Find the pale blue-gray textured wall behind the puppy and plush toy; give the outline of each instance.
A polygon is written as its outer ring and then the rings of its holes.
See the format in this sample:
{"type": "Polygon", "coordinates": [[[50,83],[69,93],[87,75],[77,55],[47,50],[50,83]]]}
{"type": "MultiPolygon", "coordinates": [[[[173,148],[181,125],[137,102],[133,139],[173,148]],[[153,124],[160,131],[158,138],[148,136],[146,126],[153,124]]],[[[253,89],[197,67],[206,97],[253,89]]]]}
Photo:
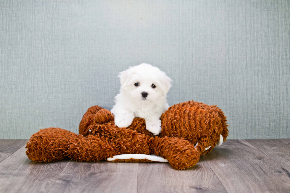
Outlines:
{"type": "Polygon", "coordinates": [[[229,139],[290,138],[288,0],[0,1],[0,138],[78,132],[117,73],[150,63],[169,105],[218,105],[229,139]]]}

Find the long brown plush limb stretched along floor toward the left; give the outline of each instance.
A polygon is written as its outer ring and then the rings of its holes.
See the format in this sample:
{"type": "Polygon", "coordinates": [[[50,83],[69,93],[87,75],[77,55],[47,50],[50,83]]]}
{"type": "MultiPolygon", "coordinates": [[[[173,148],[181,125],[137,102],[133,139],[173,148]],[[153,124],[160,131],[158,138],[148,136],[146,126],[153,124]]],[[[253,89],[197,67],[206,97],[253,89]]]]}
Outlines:
{"type": "Polygon", "coordinates": [[[131,129],[119,128],[115,136],[77,135],[60,128],[41,129],[27,142],[26,154],[35,162],[71,158],[76,161],[100,161],[114,155],[150,154],[148,137],[131,129]],[[123,131],[121,131],[123,130],[123,131]]]}

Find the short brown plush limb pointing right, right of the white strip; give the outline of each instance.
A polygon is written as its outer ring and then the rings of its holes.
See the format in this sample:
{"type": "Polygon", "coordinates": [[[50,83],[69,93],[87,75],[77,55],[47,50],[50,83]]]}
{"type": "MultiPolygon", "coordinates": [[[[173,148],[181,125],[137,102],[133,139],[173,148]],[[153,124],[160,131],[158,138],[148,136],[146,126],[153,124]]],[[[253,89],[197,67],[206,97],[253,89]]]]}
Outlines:
{"type": "Polygon", "coordinates": [[[189,141],[178,137],[152,137],[152,153],[164,157],[174,169],[191,168],[199,161],[199,152],[189,141]]]}

